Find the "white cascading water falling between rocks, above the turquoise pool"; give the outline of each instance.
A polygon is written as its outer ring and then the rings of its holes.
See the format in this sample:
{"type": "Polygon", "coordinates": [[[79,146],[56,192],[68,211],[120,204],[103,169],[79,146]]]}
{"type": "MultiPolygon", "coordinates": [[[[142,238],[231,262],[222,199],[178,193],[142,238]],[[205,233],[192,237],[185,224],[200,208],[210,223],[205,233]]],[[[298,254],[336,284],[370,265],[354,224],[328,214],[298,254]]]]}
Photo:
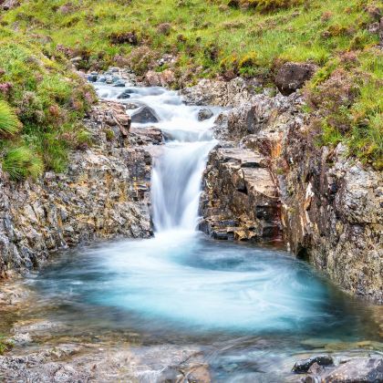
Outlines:
{"type": "MultiPolygon", "coordinates": [[[[97,89],[100,97],[114,100],[124,90],[106,85],[97,89]]],[[[142,129],[156,126],[167,137],[162,155],[154,162],[151,176],[156,233],[193,232],[199,218],[202,173],[208,154],[216,143],[212,138],[212,122],[219,109],[212,109],[214,115],[211,119],[199,121],[200,107],[184,105],[176,92],[164,88],[134,88],[134,93],[124,102],[148,105],[154,109],[160,122],[136,126],[142,129]]],[[[129,111],[132,112],[134,110],[129,111]]]]}

